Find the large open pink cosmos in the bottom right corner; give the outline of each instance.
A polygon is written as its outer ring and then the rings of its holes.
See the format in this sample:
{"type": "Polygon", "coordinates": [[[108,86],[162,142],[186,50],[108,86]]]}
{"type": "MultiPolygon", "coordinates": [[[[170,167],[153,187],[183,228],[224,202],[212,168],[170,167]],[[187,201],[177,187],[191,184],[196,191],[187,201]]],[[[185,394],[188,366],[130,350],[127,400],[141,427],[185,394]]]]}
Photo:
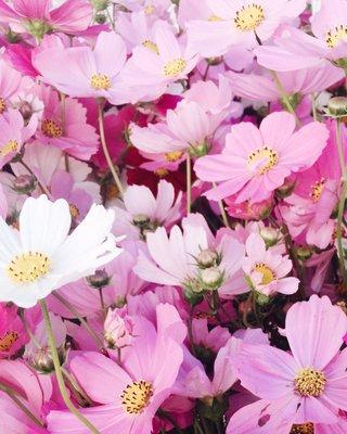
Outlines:
{"type": "MultiPolygon", "coordinates": [[[[234,358],[236,375],[256,396],[281,406],[282,420],[336,423],[338,411],[347,409],[346,349],[339,352],[346,330],[343,310],[326,296],[312,295],[287,312],[285,334],[292,354],[244,344],[234,358]]],[[[262,416],[264,424],[271,421],[271,407],[262,416]]]]}

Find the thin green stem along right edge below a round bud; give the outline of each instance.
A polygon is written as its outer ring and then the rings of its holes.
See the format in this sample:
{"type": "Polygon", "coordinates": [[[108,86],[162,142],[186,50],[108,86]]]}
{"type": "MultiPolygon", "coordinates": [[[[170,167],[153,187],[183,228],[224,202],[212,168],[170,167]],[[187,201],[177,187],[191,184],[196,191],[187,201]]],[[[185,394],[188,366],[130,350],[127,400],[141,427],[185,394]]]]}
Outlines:
{"type": "Polygon", "coordinates": [[[338,202],[336,241],[337,241],[337,251],[339,257],[339,269],[344,280],[344,288],[346,288],[347,273],[346,273],[344,247],[343,247],[343,218],[345,210],[345,201],[347,195],[347,177],[346,177],[346,164],[345,164],[345,150],[340,133],[340,119],[336,119],[336,144],[337,144],[338,159],[339,159],[342,181],[343,181],[340,197],[338,202]]]}

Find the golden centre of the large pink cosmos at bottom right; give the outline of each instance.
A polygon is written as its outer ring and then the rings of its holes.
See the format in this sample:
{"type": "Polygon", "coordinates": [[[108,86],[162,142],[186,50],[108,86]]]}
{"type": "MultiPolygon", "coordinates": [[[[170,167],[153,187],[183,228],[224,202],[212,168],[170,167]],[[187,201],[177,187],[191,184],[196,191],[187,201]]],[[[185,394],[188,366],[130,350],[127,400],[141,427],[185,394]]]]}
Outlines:
{"type": "Polygon", "coordinates": [[[323,372],[313,368],[299,370],[294,380],[295,388],[301,396],[321,396],[325,388],[326,379],[323,372]]]}

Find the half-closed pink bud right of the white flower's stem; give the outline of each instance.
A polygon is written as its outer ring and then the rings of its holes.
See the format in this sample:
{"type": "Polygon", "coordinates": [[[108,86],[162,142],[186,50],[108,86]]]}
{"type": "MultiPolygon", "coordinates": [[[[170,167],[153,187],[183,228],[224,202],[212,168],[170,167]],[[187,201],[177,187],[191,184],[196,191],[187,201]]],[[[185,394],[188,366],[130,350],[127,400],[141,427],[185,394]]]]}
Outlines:
{"type": "Polygon", "coordinates": [[[108,348],[124,348],[133,340],[133,322],[125,308],[110,309],[104,323],[104,340],[108,348]]]}

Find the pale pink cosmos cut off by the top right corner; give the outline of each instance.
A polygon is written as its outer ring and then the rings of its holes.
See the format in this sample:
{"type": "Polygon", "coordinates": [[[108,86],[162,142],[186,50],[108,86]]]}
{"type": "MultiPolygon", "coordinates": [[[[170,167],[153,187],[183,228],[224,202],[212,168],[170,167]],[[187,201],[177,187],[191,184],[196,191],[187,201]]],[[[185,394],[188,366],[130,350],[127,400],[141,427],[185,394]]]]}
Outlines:
{"type": "Polygon", "coordinates": [[[258,63],[274,71],[295,71],[336,61],[347,55],[347,4],[345,0],[322,2],[313,15],[309,36],[294,27],[285,27],[274,38],[274,46],[255,50],[258,63]]]}

